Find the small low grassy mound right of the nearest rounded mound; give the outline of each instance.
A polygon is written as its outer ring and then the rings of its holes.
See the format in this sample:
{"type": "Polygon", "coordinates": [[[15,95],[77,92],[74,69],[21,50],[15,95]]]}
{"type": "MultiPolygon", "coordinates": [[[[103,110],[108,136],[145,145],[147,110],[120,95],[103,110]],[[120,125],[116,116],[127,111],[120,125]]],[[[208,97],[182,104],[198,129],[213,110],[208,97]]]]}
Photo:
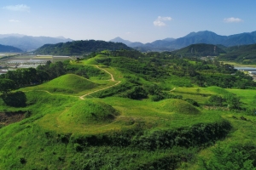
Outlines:
{"type": "Polygon", "coordinates": [[[165,99],[160,101],[160,110],[189,115],[201,113],[195,106],[181,99],[165,99]]]}

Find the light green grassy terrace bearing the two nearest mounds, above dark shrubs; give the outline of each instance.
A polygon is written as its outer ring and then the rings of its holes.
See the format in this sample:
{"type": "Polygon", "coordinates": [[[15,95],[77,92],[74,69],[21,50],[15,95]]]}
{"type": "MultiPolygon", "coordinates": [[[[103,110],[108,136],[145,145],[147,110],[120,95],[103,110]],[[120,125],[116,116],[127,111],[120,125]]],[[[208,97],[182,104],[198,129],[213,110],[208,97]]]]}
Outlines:
{"type": "Polygon", "coordinates": [[[218,121],[221,117],[217,113],[218,111],[201,112],[193,105],[179,99],[151,102],[111,97],[85,99],[62,107],[53,114],[45,115],[38,120],[38,124],[58,133],[88,135],[119,131],[123,128],[133,129],[141,123],[143,128],[152,130],[188,127],[199,122],[218,121]],[[172,104],[175,104],[174,110],[172,104]],[[165,107],[172,111],[166,110],[165,107]]]}

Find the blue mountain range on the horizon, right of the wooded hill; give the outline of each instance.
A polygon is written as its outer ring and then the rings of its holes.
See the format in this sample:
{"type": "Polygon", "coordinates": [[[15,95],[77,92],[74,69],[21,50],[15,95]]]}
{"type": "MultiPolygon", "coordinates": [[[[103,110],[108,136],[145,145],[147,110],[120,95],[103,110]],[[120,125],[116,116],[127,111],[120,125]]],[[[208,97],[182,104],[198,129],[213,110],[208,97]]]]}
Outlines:
{"type": "Polygon", "coordinates": [[[140,51],[172,51],[196,43],[221,44],[225,47],[231,47],[236,45],[247,45],[256,43],[256,31],[244,32],[241,34],[235,34],[230,36],[220,36],[212,31],[198,31],[191,32],[185,37],[180,37],[177,39],[166,38],[148,43],[130,42],[120,37],[116,37],[110,41],[123,42],[127,46],[140,51]]]}

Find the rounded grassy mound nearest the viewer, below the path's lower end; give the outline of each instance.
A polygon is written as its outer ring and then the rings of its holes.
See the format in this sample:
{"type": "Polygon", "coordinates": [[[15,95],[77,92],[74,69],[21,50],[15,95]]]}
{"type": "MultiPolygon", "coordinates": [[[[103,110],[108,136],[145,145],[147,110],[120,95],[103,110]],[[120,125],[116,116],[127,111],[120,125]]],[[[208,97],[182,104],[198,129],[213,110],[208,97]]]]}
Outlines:
{"type": "Polygon", "coordinates": [[[96,100],[81,100],[73,105],[69,111],[64,112],[60,116],[62,122],[68,124],[98,124],[113,122],[118,111],[113,109],[111,105],[96,100]]]}

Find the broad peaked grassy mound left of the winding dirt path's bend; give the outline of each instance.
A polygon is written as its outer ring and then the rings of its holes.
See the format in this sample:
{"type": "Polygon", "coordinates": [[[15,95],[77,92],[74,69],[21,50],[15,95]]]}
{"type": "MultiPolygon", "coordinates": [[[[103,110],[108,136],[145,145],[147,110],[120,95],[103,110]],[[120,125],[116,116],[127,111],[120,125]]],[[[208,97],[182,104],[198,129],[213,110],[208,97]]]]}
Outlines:
{"type": "Polygon", "coordinates": [[[38,88],[49,92],[61,92],[64,94],[78,94],[81,91],[96,88],[97,84],[90,80],[74,74],[67,74],[57,77],[38,88]]]}

